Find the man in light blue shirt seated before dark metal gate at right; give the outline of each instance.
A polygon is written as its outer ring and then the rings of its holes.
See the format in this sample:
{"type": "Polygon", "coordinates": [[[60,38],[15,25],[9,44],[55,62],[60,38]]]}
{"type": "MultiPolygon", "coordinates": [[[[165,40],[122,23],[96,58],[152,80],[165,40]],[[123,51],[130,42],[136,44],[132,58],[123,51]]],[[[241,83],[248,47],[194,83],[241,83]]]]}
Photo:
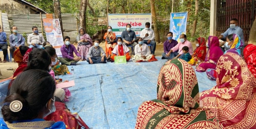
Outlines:
{"type": "MultiPolygon", "coordinates": [[[[218,39],[226,39],[226,37],[230,34],[237,34],[241,38],[241,41],[244,43],[244,32],[243,29],[241,29],[238,26],[238,20],[236,18],[232,18],[230,20],[230,28],[227,29],[226,32],[222,33],[221,36],[218,37],[218,39]]],[[[220,46],[223,46],[225,42],[220,43],[220,46]]]]}

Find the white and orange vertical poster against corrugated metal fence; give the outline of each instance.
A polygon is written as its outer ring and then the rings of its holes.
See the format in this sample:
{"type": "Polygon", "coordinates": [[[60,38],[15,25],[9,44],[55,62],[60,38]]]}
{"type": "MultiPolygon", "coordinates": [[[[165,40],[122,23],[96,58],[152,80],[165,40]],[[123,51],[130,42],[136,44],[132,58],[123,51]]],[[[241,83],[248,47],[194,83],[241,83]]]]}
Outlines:
{"type": "Polygon", "coordinates": [[[61,26],[58,19],[47,19],[44,18],[44,30],[46,33],[46,39],[53,48],[56,50],[58,57],[61,57],[61,46],[63,46],[63,37],[61,32],[61,26]]]}

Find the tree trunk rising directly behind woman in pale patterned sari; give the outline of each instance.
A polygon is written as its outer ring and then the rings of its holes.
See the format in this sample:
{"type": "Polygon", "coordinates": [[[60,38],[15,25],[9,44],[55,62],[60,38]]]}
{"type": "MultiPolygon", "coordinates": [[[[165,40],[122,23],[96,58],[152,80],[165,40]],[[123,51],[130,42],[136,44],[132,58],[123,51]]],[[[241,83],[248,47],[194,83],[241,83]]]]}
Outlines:
{"type": "Polygon", "coordinates": [[[86,32],[86,7],[87,7],[87,0],[81,0],[80,2],[80,11],[79,11],[79,20],[80,20],[80,27],[84,28],[86,32]]]}

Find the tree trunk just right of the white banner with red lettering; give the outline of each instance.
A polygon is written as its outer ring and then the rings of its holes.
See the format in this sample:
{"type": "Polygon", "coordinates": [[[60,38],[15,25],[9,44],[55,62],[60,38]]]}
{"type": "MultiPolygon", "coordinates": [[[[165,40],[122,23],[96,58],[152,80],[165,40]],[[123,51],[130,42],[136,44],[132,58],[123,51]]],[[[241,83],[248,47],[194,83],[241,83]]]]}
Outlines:
{"type": "Polygon", "coordinates": [[[160,43],[158,26],[157,26],[157,14],[155,10],[155,0],[150,0],[150,5],[151,5],[152,20],[154,23],[155,40],[157,43],[160,43]]]}

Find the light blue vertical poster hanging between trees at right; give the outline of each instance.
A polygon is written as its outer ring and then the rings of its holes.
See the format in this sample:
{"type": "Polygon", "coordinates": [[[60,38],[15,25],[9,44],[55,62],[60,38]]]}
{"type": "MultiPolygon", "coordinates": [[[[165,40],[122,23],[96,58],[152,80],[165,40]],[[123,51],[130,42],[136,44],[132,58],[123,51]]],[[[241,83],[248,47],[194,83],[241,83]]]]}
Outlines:
{"type": "Polygon", "coordinates": [[[188,12],[171,13],[170,32],[173,33],[172,39],[180,42],[180,34],[186,34],[186,22],[188,12]]]}

